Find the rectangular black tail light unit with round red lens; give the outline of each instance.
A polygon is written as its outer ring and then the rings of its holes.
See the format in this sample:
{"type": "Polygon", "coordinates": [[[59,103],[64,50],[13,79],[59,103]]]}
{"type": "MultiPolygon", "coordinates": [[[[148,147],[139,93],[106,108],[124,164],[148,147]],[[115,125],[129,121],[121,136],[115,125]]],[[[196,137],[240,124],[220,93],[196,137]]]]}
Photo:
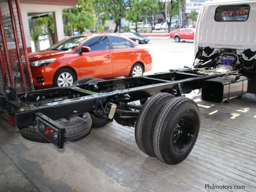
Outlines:
{"type": "Polygon", "coordinates": [[[65,128],[41,113],[36,113],[36,115],[37,132],[57,148],[63,148],[65,128]]]}

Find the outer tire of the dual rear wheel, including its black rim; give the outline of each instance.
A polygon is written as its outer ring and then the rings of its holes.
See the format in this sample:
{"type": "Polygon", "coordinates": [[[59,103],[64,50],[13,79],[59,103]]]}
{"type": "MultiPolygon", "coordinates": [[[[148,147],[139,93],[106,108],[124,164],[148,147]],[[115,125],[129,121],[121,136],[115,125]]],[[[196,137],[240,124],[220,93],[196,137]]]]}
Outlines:
{"type": "Polygon", "coordinates": [[[166,164],[178,164],[191,152],[200,129],[200,112],[195,101],[176,97],[164,104],[156,117],[153,147],[166,164]]]}

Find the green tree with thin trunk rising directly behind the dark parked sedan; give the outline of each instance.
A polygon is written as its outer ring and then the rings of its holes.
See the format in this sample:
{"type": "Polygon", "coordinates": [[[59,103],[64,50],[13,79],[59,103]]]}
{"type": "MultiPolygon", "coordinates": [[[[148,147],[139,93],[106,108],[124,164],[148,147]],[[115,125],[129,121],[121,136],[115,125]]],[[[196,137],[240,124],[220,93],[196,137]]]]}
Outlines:
{"type": "Polygon", "coordinates": [[[138,32],[137,24],[140,21],[141,7],[139,0],[128,0],[129,10],[126,11],[126,19],[135,23],[135,31],[138,32]]]}

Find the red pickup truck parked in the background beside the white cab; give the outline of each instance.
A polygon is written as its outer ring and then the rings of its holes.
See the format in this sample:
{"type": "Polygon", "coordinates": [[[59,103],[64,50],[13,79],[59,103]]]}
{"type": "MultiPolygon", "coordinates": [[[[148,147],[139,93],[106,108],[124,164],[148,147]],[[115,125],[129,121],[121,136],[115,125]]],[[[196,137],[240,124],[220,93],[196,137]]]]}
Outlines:
{"type": "Polygon", "coordinates": [[[181,28],[179,31],[170,31],[169,37],[173,38],[176,42],[180,42],[180,40],[194,40],[195,32],[195,28],[181,28]]]}

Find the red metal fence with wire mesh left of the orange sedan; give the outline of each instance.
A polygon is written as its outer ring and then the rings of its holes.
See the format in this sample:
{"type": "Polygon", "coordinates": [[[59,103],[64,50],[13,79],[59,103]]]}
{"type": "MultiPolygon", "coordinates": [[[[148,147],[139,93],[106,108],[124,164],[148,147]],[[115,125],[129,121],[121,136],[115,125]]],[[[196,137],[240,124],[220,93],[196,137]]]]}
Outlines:
{"type": "Polygon", "coordinates": [[[0,0],[0,69],[0,92],[34,90],[18,0],[0,0]]]}

